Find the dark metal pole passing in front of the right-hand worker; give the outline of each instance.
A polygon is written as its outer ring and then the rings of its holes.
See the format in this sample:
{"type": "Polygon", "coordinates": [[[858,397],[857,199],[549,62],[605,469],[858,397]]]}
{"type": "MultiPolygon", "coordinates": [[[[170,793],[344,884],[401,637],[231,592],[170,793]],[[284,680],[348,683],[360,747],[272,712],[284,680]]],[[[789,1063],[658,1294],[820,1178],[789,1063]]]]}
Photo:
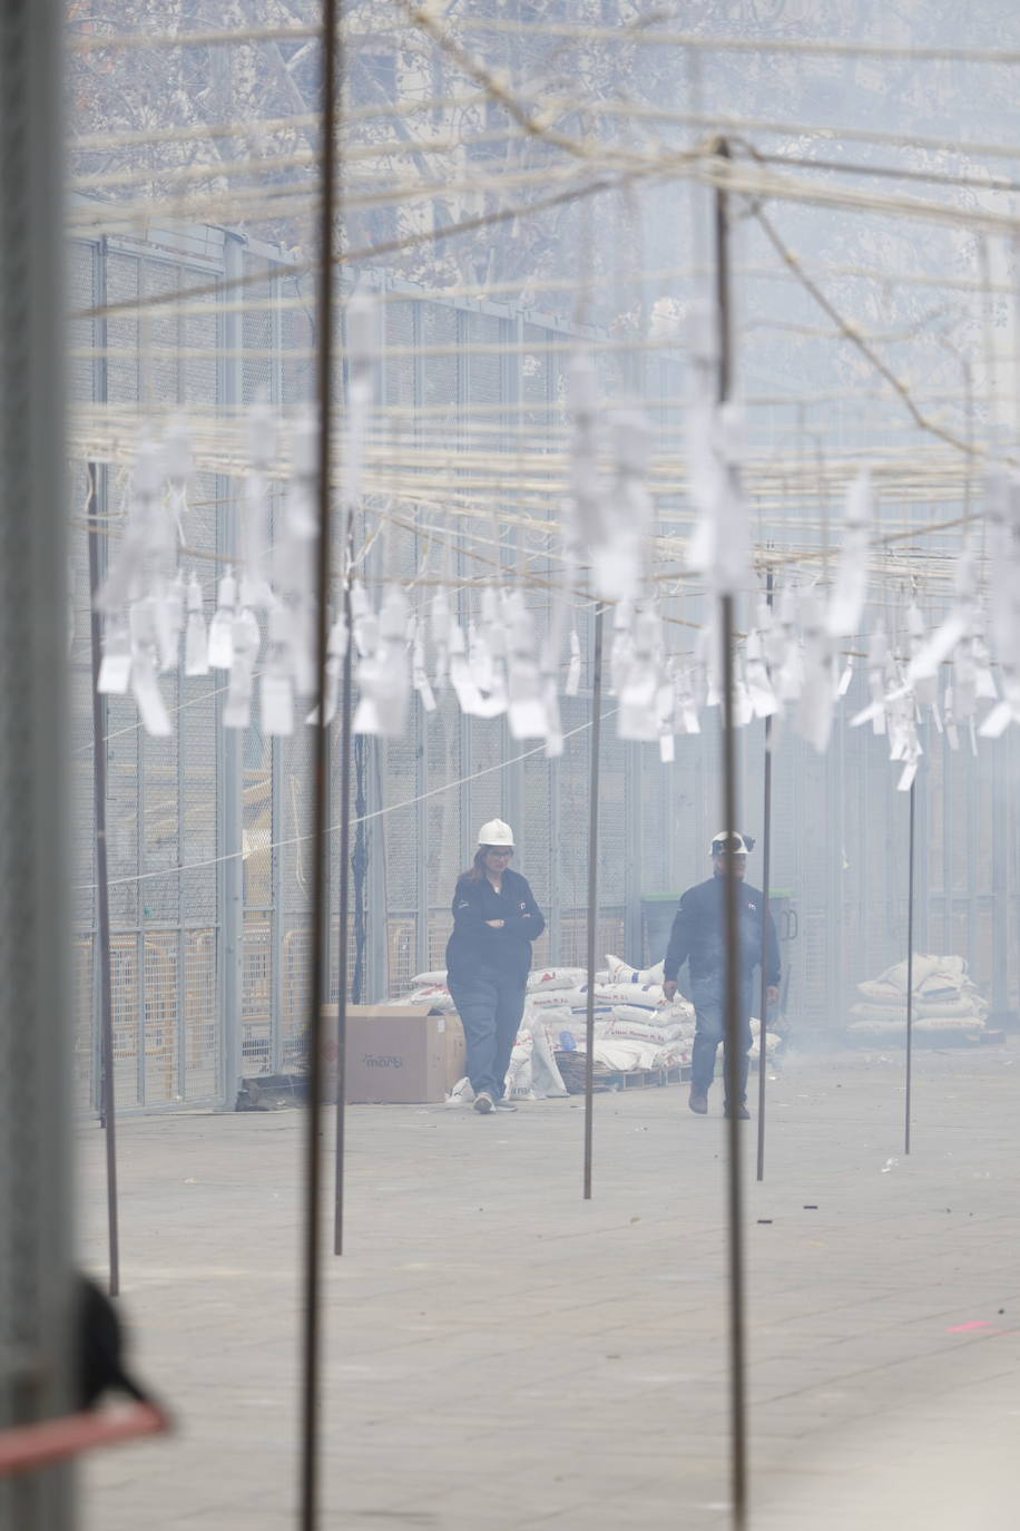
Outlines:
{"type": "MultiPolygon", "coordinates": [[[[729,158],[729,145],[722,139],[716,149],[720,159],[729,158]]],[[[729,219],[725,190],[716,190],[716,302],[719,315],[719,403],[725,404],[733,390],[731,303],[729,303],[729,219]]],[[[719,599],[719,629],[722,637],[722,700],[723,700],[723,827],[737,827],[737,781],[734,739],[734,664],[733,664],[733,596],[719,599]]],[[[728,1139],[728,1217],[729,1217],[729,1405],[731,1405],[731,1485],[733,1525],[745,1531],[748,1523],[746,1474],[746,1399],[745,1399],[745,1332],[743,1332],[743,1220],[740,1174],[740,928],[737,909],[737,879],[733,860],[726,868],[725,932],[726,932],[726,1099],[729,1116],[728,1139]]]]}

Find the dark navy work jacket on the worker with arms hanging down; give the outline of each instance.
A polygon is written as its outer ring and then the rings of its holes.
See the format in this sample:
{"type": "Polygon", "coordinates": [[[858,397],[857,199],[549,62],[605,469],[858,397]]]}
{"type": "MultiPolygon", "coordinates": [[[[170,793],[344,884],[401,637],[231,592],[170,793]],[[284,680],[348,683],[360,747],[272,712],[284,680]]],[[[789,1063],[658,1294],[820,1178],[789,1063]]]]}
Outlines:
{"type": "MultiPolygon", "coordinates": [[[[676,983],[676,975],[685,961],[690,963],[691,980],[722,978],[726,951],[725,877],[710,877],[688,888],[673,920],[670,946],[665,954],[662,977],[676,983]]],[[[749,978],[762,961],[762,914],[765,899],[757,888],[737,882],[737,931],[740,935],[740,972],[749,978]]],[[[775,939],[772,916],[765,911],[765,981],[780,981],[780,949],[775,939]]]]}

